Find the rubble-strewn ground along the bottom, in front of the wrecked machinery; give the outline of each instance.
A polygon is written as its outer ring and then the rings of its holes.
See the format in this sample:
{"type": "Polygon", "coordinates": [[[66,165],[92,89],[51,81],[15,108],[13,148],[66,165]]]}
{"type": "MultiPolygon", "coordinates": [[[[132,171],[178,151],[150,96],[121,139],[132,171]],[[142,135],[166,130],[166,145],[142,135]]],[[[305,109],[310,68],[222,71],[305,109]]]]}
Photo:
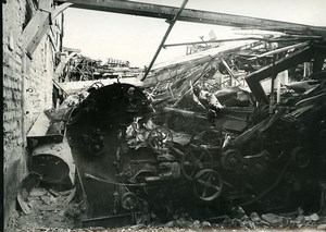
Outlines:
{"type": "Polygon", "coordinates": [[[235,208],[233,217],[221,217],[214,222],[191,219],[187,213],[175,215],[164,224],[138,223],[124,228],[87,228],[82,229],[82,215],[85,206],[77,203],[75,188],[58,191],[34,187],[26,203],[30,212],[17,209],[11,217],[7,231],[255,231],[255,230],[308,230],[325,231],[325,213],[305,213],[300,208],[291,213],[275,215],[244,212],[235,208]]]}

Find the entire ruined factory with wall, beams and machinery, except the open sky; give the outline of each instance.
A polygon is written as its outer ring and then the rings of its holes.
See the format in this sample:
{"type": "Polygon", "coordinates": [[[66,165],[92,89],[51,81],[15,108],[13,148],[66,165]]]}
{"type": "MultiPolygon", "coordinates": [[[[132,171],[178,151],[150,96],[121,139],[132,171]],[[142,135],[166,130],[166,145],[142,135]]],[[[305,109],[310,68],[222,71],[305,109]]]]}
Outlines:
{"type": "Polygon", "coordinates": [[[191,1],[2,0],[4,231],[326,229],[326,24],[191,1]],[[70,9],[166,27],[139,68],[66,46],[70,9]]]}

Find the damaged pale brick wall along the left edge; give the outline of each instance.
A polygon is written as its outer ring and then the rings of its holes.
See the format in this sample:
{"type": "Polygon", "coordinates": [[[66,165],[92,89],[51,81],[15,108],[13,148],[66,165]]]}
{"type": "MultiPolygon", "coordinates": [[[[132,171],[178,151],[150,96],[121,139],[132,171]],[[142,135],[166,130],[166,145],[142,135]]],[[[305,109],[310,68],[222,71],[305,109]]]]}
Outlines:
{"type": "MultiPolygon", "coordinates": [[[[54,48],[48,33],[30,59],[23,44],[23,30],[37,7],[25,0],[2,3],[4,224],[15,208],[18,184],[27,174],[26,134],[39,113],[52,107],[53,62],[59,46],[54,48]]],[[[53,22],[54,38],[61,32],[60,24],[60,19],[53,22]]]]}

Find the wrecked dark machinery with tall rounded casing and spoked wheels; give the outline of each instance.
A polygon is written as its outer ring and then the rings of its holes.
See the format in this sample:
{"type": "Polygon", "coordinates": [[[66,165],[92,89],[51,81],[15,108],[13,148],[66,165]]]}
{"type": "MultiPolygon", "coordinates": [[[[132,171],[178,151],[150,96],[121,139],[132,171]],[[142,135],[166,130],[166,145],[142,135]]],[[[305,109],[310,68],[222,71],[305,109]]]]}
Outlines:
{"type": "Polygon", "coordinates": [[[306,193],[306,206],[318,203],[326,178],[324,95],[294,111],[259,119],[255,111],[244,124],[192,118],[193,130],[183,131],[175,123],[183,115],[171,123],[173,115],[154,110],[138,87],[89,91],[66,123],[87,224],[135,221],[146,212],[167,218],[177,208],[215,213],[221,204],[291,207],[306,193]]]}

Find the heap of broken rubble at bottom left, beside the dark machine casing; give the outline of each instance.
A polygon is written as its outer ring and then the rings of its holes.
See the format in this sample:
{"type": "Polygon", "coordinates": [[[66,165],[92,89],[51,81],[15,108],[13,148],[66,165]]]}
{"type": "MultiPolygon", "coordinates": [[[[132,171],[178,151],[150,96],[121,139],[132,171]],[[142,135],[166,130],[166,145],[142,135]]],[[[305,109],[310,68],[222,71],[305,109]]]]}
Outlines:
{"type": "Polygon", "coordinates": [[[25,199],[30,211],[15,211],[8,229],[47,231],[76,228],[80,221],[83,203],[76,203],[75,192],[75,188],[58,191],[53,187],[34,187],[25,199]]]}

